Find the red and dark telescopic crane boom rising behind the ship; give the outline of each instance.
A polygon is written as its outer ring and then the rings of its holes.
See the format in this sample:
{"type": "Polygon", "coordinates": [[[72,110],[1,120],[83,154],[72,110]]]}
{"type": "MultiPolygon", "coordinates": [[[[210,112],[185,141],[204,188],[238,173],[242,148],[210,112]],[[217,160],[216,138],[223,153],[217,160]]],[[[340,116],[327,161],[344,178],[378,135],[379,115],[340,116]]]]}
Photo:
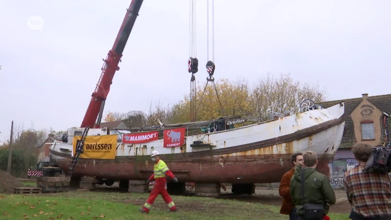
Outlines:
{"type": "Polygon", "coordinates": [[[104,60],[102,73],[98,83],[92,93],[86,114],[81,127],[99,128],[102,120],[103,109],[105,108],[106,98],[110,91],[110,85],[115,71],[119,70],[118,63],[121,62],[122,52],[128,42],[130,32],[138,16],[143,0],[131,0],[129,9],[126,12],[124,21],[118,31],[114,45],[104,60]],[[95,125],[96,122],[96,125],[95,125]]]}

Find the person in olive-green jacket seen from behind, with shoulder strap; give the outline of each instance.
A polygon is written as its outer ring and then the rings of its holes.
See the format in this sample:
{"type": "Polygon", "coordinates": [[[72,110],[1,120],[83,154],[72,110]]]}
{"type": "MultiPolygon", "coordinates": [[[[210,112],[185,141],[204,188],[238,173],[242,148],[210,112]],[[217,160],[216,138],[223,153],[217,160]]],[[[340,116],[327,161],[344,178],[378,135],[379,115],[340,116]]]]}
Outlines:
{"type": "Polygon", "coordinates": [[[328,178],[316,171],[318,156],[313,151],[307,151],[303,154],[304,166],[295,170],[290,182],[290,195],[293,204],[295,204],[299,220],[304,220],[304,203],[323,203],[324,215],[328,214],[328,204],[335,204],[335,193],[331,187],[328,178]],[[302,195],[301,172],[304,172],[304,200],[302,195]]]}

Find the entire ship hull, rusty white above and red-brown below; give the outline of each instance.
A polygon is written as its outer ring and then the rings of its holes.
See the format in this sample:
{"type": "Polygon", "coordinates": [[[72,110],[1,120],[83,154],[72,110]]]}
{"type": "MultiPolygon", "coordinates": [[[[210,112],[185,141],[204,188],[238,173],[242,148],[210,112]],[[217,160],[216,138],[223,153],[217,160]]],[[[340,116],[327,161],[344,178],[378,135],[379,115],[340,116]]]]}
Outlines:
{"type": "MultiPolygon", "coordinates": [[[[119,142],[115,159],[80,158],[73,176],[145,180],[153,172],[150,157],[153,150],[161,154],[160,158],[181,182],[279,182],[292,168],[290,156],[305,151],[318,154],[317,170],[329,176],[328,163],[338,150],[344,133],[344,105],[340,103],[240,128],[186,136],[185,144],[180,147],[164,148],[163,139],[142,144],[119,142]],[[195,141],[202,144],[195,146],[195,141]]],[[[49,152],[51,160],[67,172],[72,160],[72,141],[55,141],[49,152]]]]}

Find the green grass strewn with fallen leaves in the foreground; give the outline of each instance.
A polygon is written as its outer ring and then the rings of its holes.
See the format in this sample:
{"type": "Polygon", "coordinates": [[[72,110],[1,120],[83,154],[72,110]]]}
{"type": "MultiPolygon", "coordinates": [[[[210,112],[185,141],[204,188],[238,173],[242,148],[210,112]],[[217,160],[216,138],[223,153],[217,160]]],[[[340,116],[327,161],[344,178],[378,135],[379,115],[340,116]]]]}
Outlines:
{"type": "MultiPolygon", "coordinates": [[[[0,194],[0,219],[7,220],[288,220],[279,206],[231,199],[172,196],[178,207],[169,209],[159,196],[149,214],[138,209],[149,194],[75,191],[57,194],[0,194]]],[[[348,214],[329,214],[332,220],[348,220],[348,214]]]]}

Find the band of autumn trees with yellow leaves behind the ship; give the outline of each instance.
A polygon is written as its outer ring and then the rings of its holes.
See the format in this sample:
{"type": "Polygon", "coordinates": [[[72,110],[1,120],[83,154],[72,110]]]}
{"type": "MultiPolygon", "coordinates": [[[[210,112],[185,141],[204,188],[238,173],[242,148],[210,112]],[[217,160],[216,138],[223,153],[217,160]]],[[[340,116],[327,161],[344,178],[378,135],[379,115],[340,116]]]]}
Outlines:
{"type": "MultiPolygon", "coordinates": [[[[216,79],[215,84],[216,89],[211,82],[206,88],[206,83],[197,83],[195,95],[197,121],[237,115],[253,116],[259,121],[264,121],[267,120],[270,111],[280,113],[285,110],[297,111],[304,99],[311,99],[314,102],[325,101],[325,89],[321,90],[319,85],[294,81],[289,74],[281,74],[280,78],[267,74],[256,82],[252,89],[244,79],[236,81],[216,79]]],[[[130,127],[158,125],[159,120],[165,124],[190,122],[190,94],[186,94],[183,100],[171,107],[162,107],[159,103],[153,109],[151,105],[148,114],[137,111],[137,115],[144,115],[145,120],[140,120],[143,123],[131,123],[129,118],[134,117],[134,113],[130,112],[108,112],[105,121],[128,119],[126,124],[130,127]]]]}

